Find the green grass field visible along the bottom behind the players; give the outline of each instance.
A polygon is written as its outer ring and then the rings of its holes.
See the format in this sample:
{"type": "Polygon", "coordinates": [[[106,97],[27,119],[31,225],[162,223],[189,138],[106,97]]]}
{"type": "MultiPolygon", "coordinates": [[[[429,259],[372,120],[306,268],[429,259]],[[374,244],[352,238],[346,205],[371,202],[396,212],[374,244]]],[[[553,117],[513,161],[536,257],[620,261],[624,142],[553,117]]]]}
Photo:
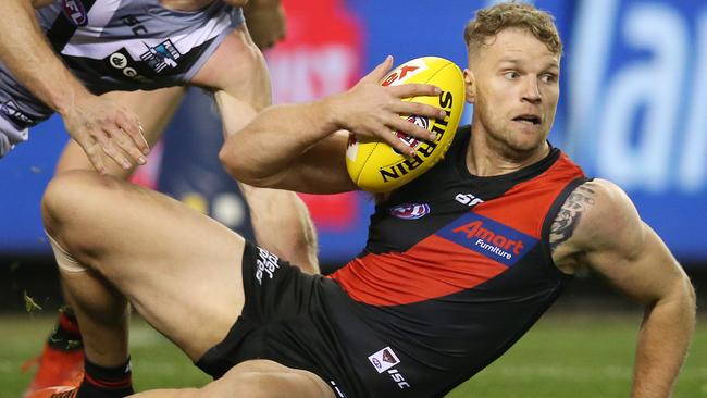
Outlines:
{"type": "MultiPolygon", "coordinates": [[[[511,350],[448,398],[629,397],[637,313],[554,311],[511,350]]],[[[702,315],[674,398],[707,397],[707,319],[702,315]]],[[[0,398],[17,398],[30,374],[21,364],[36,355],[53,319],[0,318],[0,398]]],[[[142,322],[132,333],[137,390],[200,386],[209,381],[171,343],[142,322]]]]}

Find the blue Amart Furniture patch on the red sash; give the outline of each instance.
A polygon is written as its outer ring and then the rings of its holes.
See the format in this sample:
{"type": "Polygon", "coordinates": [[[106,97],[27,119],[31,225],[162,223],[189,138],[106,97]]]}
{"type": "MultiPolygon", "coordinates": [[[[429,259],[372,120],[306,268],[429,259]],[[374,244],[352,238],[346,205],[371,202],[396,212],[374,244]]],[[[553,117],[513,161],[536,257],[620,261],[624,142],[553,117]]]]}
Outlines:
{"type": "Polygon", "coordinates": [[[506,266],[512,266],[537,244],[537,238],[469,212],[436,234],[506,266]]]}

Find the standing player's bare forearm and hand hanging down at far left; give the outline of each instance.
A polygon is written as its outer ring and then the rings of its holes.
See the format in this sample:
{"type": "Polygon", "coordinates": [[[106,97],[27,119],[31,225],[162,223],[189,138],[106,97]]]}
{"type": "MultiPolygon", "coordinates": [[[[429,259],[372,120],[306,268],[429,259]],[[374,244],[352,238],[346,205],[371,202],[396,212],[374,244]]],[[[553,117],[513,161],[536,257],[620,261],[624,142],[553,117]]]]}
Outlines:
{"type": "Polygon", "coordinates": [[[49,46],[33,7],[51,0],[8,0],[0,25],[0,61],[14,77],[49,108],[60,113],[66,129],[99,172],[102,151],[129,169],[129,156],[145,163],[149,148],[137,116],[116,103],[94,96],[64,66],[49,46]]]}

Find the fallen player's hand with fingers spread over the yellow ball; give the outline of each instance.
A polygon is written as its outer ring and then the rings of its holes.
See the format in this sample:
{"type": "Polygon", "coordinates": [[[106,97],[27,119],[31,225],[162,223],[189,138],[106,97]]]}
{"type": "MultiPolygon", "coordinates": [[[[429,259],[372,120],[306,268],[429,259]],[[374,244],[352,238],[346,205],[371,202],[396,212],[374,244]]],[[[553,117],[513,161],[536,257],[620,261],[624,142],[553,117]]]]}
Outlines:
{"type": "Polygon", "coordinates": [[[400,115],[419,115],[443,119],[444,110],[414,102],[402,101],[417,96],[438,96],[438,87],[426,84],[402,84],[381,86],[381,80],[390,71],[393,57],[388,57],[354,88],[331,97],[328,111],[342,129],[360,136],[377,137],[400,153],[414,154],[414,150],[400,141],[395,132],[405,133],[422,140],[434,140],[430,130],[401,119],[400,115]]]}

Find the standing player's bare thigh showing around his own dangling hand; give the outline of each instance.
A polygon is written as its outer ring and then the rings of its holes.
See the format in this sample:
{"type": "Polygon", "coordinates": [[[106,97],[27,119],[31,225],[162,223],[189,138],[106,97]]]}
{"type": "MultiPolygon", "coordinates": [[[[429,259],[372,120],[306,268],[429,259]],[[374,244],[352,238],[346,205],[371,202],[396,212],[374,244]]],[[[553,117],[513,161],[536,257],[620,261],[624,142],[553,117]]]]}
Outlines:
{"type": "MultiPolygon", "coordinates": [[[[164,128],[182,103],[184,91],[184,87],[169,87],[152,91],[111,91],[106,92],[103,97],[137,114],[144,128],[145,139],[152,147],[162,137],[164,128]]],[[[110,175],[127,178],[135,171],[135,167],[129,171],[124,170],[104,153],[101,153],[101,157],[110,175]]],[[[57,173],[70,170],[94,170],[86,153],[74,140],[69,140],[57,164],[57,173]]]]}

